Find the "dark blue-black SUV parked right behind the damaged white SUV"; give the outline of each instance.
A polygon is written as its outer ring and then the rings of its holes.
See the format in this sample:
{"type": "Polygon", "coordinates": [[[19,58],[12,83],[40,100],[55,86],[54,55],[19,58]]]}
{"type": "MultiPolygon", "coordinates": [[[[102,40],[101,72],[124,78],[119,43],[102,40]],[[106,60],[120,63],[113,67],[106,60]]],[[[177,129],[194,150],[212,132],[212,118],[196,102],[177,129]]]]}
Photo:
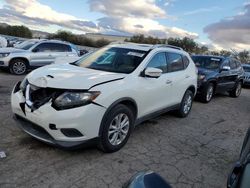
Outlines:
{"type": "Polygon", "coordinates": [[[229,92],[238,97],[243,84],[244,70],[241,63],[231,57],[192,56],[198,68],[197,96],[208,103],[217,92],[229,92]]]}

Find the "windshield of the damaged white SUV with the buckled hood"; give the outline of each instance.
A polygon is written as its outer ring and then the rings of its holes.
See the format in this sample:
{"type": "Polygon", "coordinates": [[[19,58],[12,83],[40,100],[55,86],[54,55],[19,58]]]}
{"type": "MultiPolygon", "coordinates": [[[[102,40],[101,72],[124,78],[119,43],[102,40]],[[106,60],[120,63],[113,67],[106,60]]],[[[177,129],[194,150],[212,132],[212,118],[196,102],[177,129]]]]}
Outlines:
{"type": "Polygon", "coordinates": [[[76,65],[80,67],[129,74],[133,72],[146,56],[146,51],[104,47],[84,56],[76,65]]]}

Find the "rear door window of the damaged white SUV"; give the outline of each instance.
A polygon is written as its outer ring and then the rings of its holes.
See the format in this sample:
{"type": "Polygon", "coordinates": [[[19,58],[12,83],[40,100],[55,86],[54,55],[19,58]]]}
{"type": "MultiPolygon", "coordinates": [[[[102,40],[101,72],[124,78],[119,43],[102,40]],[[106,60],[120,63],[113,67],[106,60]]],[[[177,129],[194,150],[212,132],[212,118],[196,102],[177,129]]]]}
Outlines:
{"type": "Polygon", "coordinates": [[[168,52],[167,57],[169,64],[169,72],[176,72],[184,69],[182,55],[168,52]]]}

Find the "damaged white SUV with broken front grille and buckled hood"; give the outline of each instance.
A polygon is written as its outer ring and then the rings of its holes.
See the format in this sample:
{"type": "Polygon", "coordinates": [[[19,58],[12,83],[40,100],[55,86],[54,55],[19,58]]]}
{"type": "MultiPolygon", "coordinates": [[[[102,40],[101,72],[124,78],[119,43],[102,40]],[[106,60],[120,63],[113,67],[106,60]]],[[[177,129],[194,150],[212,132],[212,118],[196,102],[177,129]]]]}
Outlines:
{"type": "Polygon", "coordinates": [[[11,103],[22,129],[38,140],[62,147],[95,141],[114,152],[145,120],[169,110],[186,117],[196,88],[195,64],[182,49],[124,43],[31,72],[11,103]]]}

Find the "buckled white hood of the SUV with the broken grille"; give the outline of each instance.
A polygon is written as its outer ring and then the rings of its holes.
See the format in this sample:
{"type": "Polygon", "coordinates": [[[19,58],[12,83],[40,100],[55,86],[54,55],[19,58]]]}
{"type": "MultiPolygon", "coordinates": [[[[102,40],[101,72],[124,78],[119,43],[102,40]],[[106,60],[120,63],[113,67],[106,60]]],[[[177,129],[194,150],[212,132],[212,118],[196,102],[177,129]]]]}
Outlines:
{"type": "Polygon", "coordinates": [[[87,90],[96,84],[122,79],[125,74],[110,73],[70,64],[44,66],[28,74],[29,83],[38,87],[87,90]]]}

